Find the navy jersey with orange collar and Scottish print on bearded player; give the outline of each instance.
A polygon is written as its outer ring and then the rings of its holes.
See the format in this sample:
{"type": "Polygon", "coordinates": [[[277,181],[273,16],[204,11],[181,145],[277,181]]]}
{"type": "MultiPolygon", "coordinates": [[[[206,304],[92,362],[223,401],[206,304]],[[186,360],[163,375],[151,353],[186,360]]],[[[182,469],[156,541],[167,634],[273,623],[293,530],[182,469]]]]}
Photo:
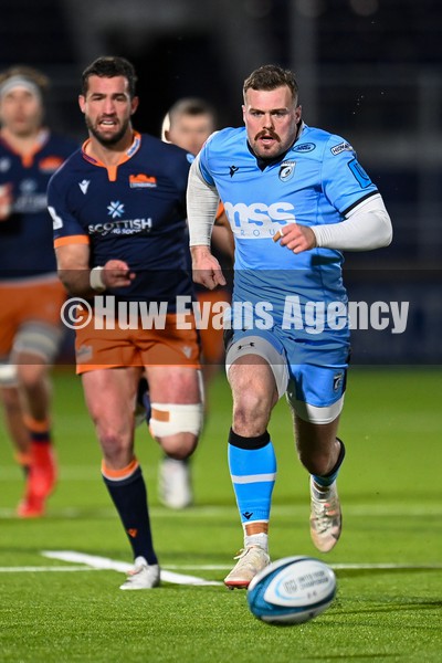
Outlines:
{"type": "Polygon", "coordinates": [[[125,261],[136,278],[109,292],[124,301],[167,302],[172,313],[177,296],[193,296],[186,221],[193,156],[135,133],[118,166],[107,168],[85,154],[86,145],[50,181],[55,248],[87,243],[91,267],[125,261]]]}

